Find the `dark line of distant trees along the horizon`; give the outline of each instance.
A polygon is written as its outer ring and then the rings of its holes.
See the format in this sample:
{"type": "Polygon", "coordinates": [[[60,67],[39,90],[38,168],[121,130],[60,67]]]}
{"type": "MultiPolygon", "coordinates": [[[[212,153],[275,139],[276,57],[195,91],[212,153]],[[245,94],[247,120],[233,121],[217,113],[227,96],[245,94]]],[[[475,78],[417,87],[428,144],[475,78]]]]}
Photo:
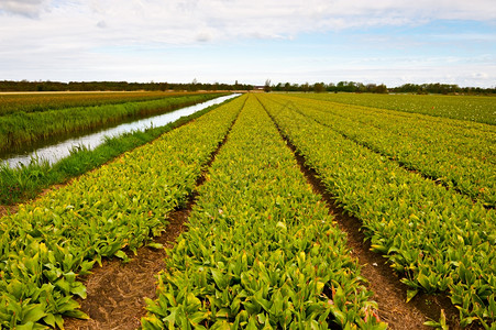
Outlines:
{"type": "Polygon", "coordinates": [[[340,81],[338,84],[315,82],[315,84],[290,84],[278,82],[271,84],[265,81],[265,86],[253,86],[247,84],[202,84],[196,79],[189,84],[175,82],[128,82],[128,81],[13,81],[1,80],[0,91],[197,91],[197,90],[253,90],[262,89],[264,91],[299,91],[299,92],[408,92],[408,94],[496,94],[496,87],[460,87],[450,84],[405,84],[399,87],[387,87],[384,84],[362,84],[355,81],[340,81]]]}

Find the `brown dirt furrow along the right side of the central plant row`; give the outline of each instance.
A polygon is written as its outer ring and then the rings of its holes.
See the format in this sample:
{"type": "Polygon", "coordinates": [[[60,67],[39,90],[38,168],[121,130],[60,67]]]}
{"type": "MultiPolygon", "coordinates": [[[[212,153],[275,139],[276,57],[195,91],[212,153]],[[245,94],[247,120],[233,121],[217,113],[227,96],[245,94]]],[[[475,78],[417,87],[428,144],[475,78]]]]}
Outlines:
{"type": "MultiPolygon", "coordinates": [[[[262,102],[261,105],[265,109],[262,102]]],[[[266,109],[265,111],[294,153],[313,191],[322,197],[339,228],[348,234],[348,245],[352,255],[362,266],[361,275],[368,280],[367,288],[374,293],[372,299],[378,304],[381,320],[387,322],[389,329],[433,329],[423,323],[431,320],[439,321],[441,310],[443,310],[450,329],[461,329],[458,309],[444,295],[418,294],[411,301],[406,302],[407,286],[399,282],[400,278],[389,267],[385,257],[371,251],[371,243],[365,240],[365,234],[361,231],[362,221],[348,215],[338,206],[335,198],[328,193],[316,170],[306,165],[305,157],[297,152],[296,146],[280,131],[271,113],[266,109]]]]}

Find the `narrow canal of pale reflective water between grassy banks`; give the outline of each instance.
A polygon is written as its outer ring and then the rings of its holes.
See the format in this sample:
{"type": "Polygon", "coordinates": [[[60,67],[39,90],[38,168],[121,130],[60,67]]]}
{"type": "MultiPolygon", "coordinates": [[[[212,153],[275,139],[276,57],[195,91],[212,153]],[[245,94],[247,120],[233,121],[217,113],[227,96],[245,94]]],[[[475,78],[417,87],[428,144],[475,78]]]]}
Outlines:
{"type": "Polygon", "coordinates": [[[191,107],[186,107],[173,112],[167,112],[159,116],[140,119],[133,122],[123,123],[114,128],[104,129],[99,132],[93,132],[91,134],[84,136],[67,139],[57,142],[55,144],[37,147],[35,150],[25,150],[23,152],[13,153],[0,160],[0,163],[8,164],[10,167],[16,167],[20,166],[21,164],[23,165],[30,164],[32,158],[38,158],[46,160],[51,164],[53,164],[70,155],[70,151],[75,147],[80,147],[84,145],[89,150],[93,150],[95,147],[103,143],[104,136],[118,136],[131,131],[143,131],[151,127],[154,128],[163,127],[178,120],[181,117],[190,116],[210,106],[222,103],[223,101],[232,99],[236,96],[239,96],[239,94],[219,97],[217,99],[198,103],[191,107]]]}

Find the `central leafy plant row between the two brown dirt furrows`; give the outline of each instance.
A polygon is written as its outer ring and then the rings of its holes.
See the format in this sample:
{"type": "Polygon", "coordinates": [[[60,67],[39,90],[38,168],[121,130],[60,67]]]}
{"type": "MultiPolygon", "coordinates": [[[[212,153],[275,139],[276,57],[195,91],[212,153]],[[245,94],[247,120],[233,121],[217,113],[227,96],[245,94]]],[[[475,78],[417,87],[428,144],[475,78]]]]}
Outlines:
{"type": "Polygon", "coordinates": [[[360,266],[250,96],[169,251],[143,329],[385,329],[360,266]]]}

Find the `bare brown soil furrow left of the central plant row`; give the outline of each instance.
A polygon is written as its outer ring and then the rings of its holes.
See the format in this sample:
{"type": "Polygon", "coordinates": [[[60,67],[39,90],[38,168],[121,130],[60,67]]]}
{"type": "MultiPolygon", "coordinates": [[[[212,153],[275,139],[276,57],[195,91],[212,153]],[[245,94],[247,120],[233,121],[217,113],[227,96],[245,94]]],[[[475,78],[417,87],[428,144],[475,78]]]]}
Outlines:
{"type": "MultiPolygon", "coordinates": [[[[169,216],[167,230],[155,242],[172,248],[186,228],[191,205],[192,200],[169,216]]],[[[88,297],[79,302],[90,319],[66,319],[66,329],[137,329],[146,314],[144,298],[156,298],[155,274],[164,268],[166,256],[165,249],[142,248],[137,256],[130,255],[133,258],[128,264],[104,261],[84,280],[88,297]]]]}

